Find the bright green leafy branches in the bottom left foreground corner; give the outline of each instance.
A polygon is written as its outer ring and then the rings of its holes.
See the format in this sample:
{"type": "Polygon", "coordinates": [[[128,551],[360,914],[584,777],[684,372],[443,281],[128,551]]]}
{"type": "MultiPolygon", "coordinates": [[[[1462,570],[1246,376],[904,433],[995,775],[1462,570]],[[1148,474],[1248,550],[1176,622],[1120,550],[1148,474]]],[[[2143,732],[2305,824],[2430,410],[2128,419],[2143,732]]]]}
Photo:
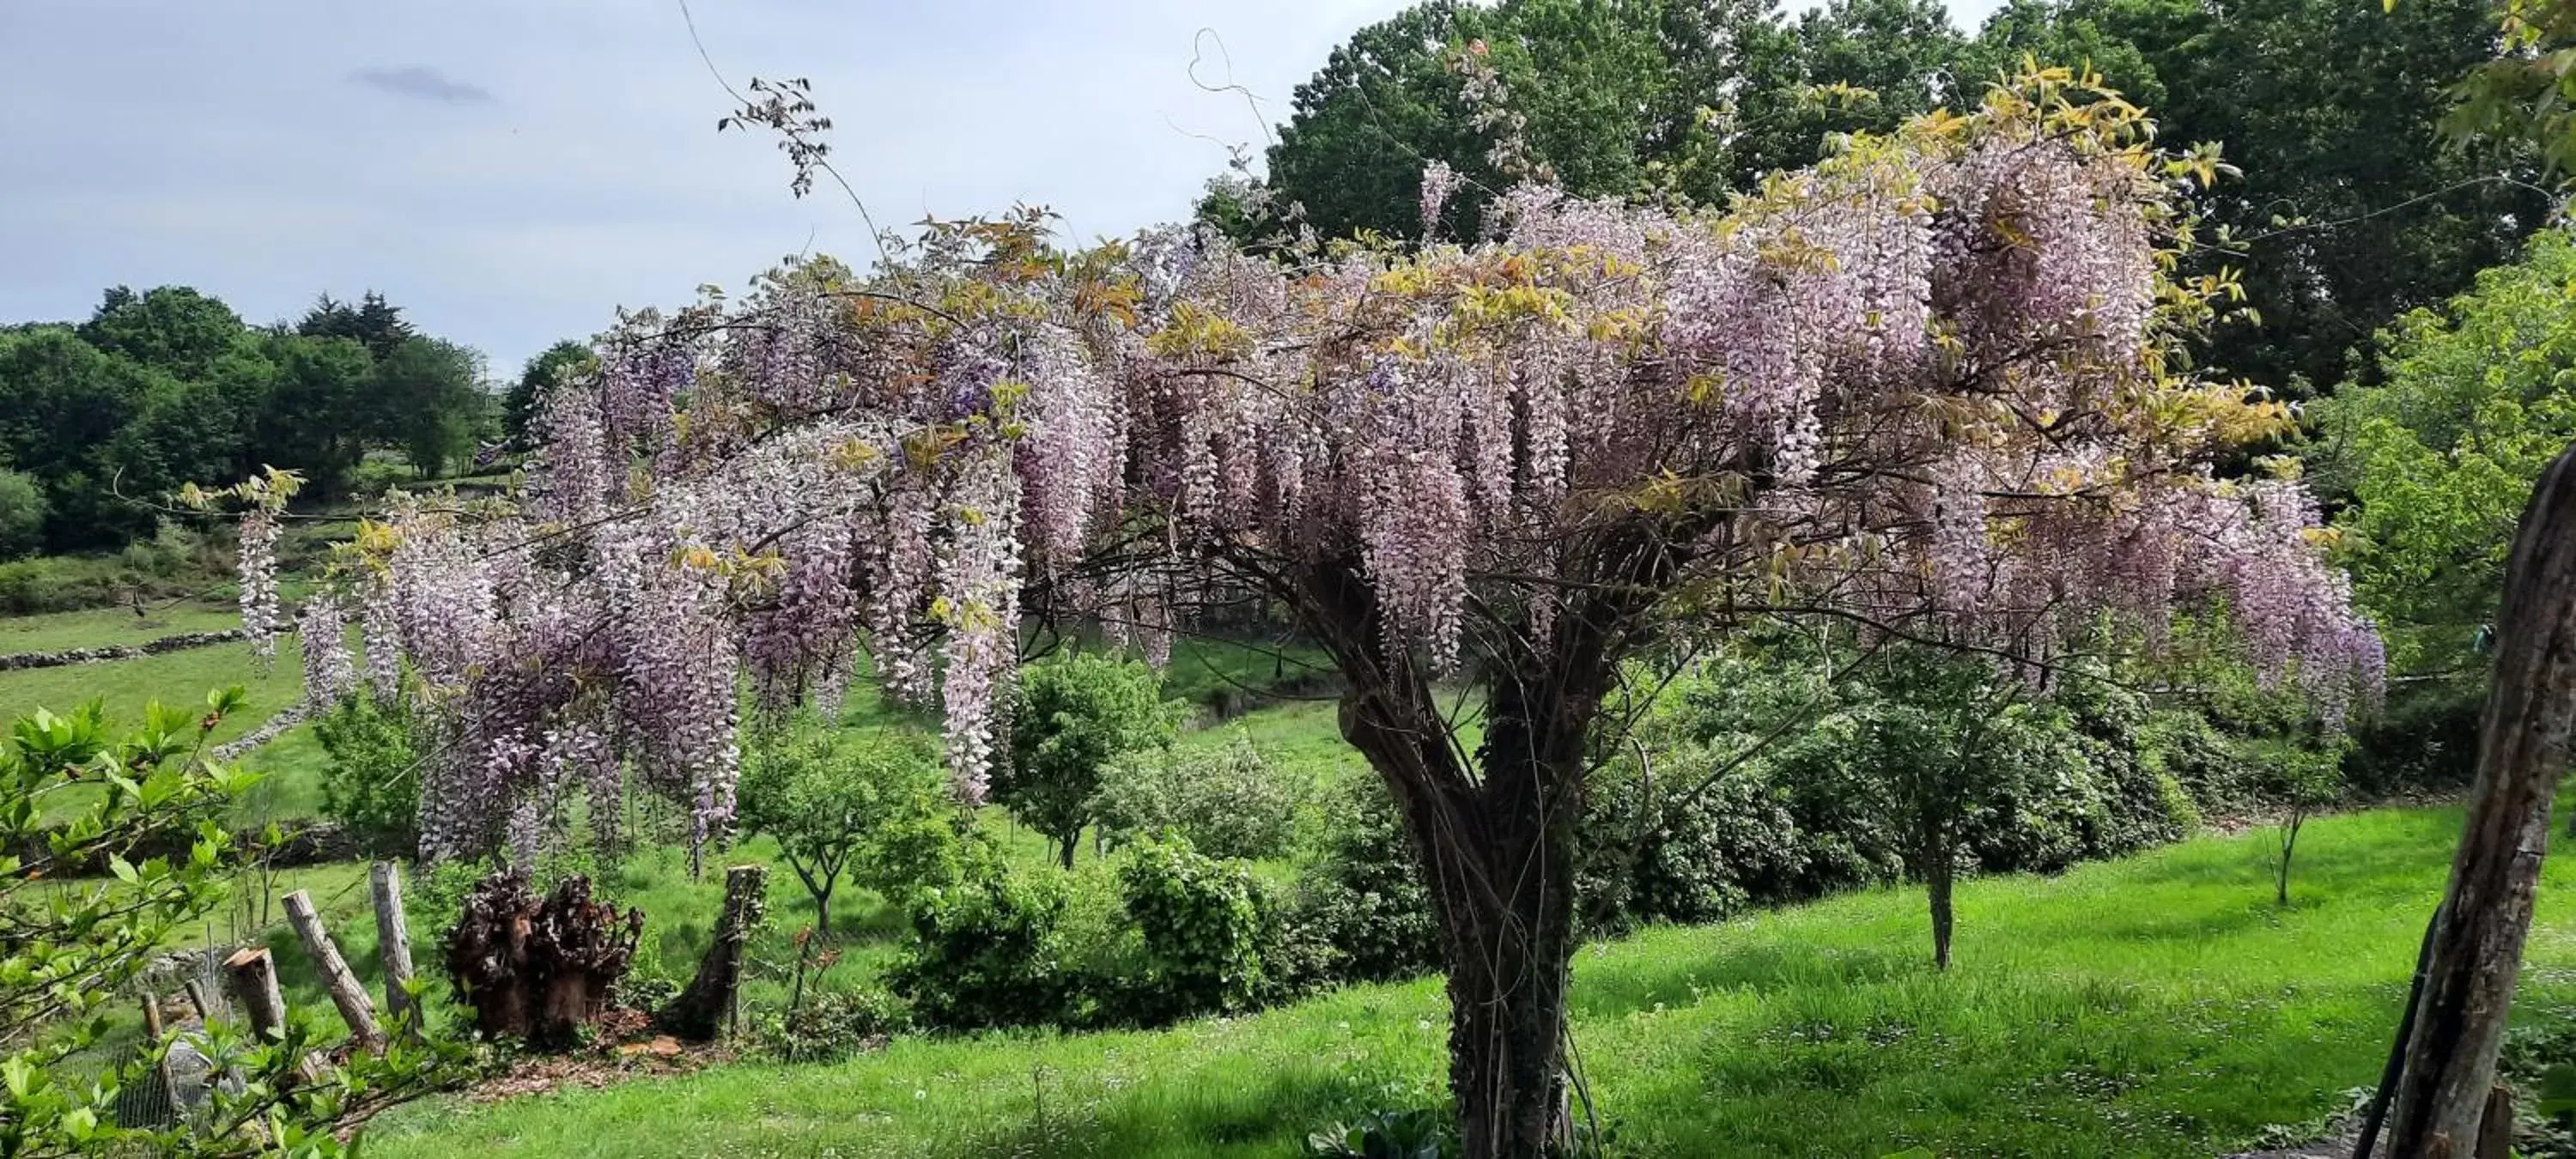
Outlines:
{"type": "Polygon", "coordinates": [[[348,1154],[340,1131],[464,1077],[466,1053],[430,1041],[358,1051],[299,1079],[304,1056],[322,1046],[304,1022],[268,1041],[216,1022],[191,1033],[191,1046],[232,1082],[214,1084],[178,1123],[118,1123],[121,1092],[152,1082],[175,1038],[103,1074],[82,1051],[106,1035],[108,1002],[222,899],[229,840],[214,819],[252,778],[204,749],[240,706],[240,688],[209,695],[201,711],[155,703],[121,737],[95,703],[70,716],[36,711],[0,747],[0,1154],[337,1156],[348,1154]],[[62,801],[72,801],[70,816],[39,827],[64,814],[62,801]],[[124,855],[191,829],[185,858],[124,855]],[[49,881],[95,858],[106,858],[106,878],[49,881]]]}

